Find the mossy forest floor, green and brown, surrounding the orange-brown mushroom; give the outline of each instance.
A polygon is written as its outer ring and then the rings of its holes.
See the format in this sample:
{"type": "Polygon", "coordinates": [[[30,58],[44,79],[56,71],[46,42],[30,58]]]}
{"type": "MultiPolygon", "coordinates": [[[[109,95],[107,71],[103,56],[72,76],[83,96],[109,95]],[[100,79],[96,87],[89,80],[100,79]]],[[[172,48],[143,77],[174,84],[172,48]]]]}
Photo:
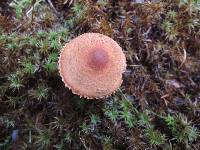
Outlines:
{"type": "Polygon", "coordinates": [[[198,0],[0,0],[0,150],[199,150],[198,0]],[[119,43],[109,98],[64,86],[62,46],[87,32],[119,43]]]}

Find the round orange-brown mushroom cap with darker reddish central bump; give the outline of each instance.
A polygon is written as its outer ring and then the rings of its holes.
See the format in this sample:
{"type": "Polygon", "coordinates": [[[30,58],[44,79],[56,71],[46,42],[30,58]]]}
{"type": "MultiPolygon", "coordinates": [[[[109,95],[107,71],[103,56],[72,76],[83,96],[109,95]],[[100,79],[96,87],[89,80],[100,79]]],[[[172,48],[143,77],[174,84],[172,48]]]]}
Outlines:
{"type": "Polygon", "coordinates": [[[67,43],[60,55],[59,71],[73,93],[88,99],[103,98],[122,83],[126,58],[108,36],[85,33],[67,43]]]}

